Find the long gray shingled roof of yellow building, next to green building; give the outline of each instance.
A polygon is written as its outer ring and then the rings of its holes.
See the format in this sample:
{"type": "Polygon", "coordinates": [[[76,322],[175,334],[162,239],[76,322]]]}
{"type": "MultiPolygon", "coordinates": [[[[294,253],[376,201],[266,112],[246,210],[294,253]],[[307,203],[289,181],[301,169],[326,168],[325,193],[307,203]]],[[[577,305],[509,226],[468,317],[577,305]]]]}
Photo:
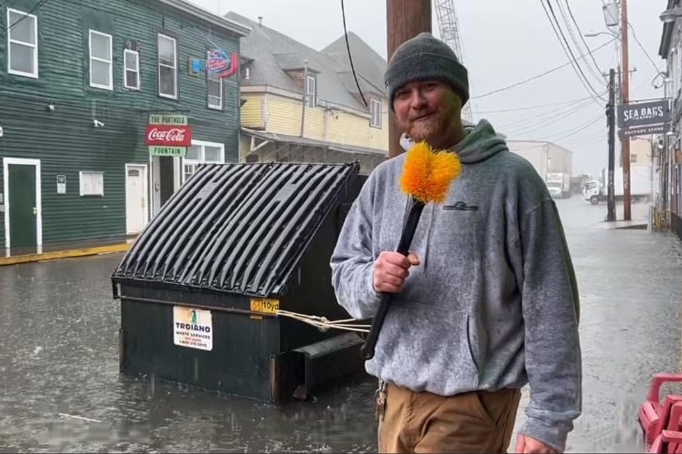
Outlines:
{"type": "Polygon", "coordinates": [[[353,95],[357,91],[355,82],[353,90],[349,90],[345,77],[338,74],[344,65],[335,57],[237,13],[230,12],[225,17],[247,24],[252,29],[248,36],[240,40],[241,54],[253,59],[248,63],[251,68],[249,78],[241,79],[241,86],[271,86],[301,93],[303,88],[287,74],[287,70],[300,70],[307,60],[308,68],[316,73],[317,99],[367,112],[367,107],[353,95]]]}

